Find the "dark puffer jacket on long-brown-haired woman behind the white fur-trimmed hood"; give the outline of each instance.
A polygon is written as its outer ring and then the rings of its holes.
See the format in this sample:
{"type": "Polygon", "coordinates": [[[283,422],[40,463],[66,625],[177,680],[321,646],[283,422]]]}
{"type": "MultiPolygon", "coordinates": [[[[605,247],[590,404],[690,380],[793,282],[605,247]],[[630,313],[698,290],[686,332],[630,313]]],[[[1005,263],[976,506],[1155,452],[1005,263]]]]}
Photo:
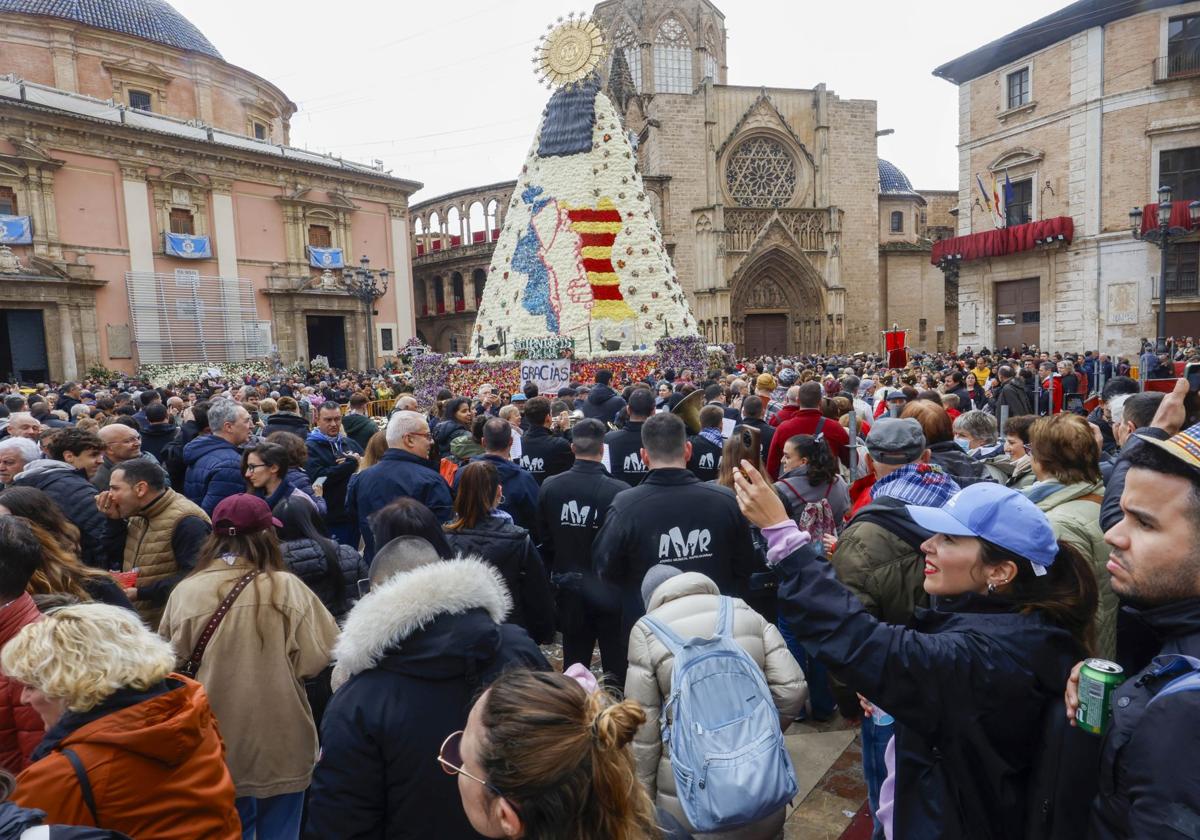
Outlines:
{"type": "Polygon", "coordinates": [[[539,644],[553,640],[554,598],[528,530],[493,515],[474,528],[448,530],[446,540],[456,554],[481,557],[500,571],[512,594],[512,624],[524,628],[539,644]]]}

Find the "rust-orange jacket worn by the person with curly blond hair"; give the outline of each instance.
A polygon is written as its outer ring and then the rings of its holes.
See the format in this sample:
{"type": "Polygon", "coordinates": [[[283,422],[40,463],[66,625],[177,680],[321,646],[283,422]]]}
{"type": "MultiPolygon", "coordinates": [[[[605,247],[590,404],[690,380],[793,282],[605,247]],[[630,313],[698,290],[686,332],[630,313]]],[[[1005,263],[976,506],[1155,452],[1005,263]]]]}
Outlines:
{"type": "Polygon", "coordinates": [[[61,752],[70,748],[86,770],[100,828],[155,840],[240,840],[233,779],[204,686],[180,674],[167,686],[64,736],[67,713],[47,736],[61,739],[17,776],[13,802],[46,811],[48,823],[96,826],[61,752]]]}

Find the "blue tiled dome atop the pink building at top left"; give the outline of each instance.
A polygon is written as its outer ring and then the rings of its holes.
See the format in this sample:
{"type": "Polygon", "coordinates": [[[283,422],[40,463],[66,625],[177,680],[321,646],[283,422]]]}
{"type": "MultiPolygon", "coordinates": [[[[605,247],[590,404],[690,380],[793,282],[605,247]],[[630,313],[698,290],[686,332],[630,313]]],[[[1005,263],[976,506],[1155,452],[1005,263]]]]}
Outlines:
{"type": "Polygon", "coordinates": [[[221,58],[217,48],[164,0],[0,0],[0,13],[40,14],[221,58]]]}

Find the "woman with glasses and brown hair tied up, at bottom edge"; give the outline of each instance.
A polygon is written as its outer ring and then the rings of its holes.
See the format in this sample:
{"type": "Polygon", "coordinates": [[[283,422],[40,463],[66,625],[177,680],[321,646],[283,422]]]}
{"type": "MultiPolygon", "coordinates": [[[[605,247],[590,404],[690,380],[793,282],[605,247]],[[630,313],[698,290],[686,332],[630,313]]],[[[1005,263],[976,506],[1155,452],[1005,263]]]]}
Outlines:
{"type": "Polygon", "coordinates": [[[486,838],[686,840],[637,784],[629,744],[644,720],[582,666],[510,671],[475,702],[467,728],[446,738],[438,762],[458,775],[467,818],[486,838]]]}

